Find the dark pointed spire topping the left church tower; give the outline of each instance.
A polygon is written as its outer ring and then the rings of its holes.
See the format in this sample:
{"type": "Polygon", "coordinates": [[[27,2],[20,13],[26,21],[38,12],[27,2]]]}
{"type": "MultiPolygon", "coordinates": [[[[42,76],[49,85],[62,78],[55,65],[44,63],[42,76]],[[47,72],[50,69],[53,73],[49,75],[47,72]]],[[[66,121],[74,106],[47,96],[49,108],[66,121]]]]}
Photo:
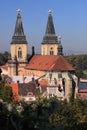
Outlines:
{"type": "Polygon", "coordinates": [[[14,35],[12,37],[12,42],[11,44],[14,43],[27,43],[26,41],[26,36],[24,35],[24,29],[23,29],[23,24],[21,20],[21,10],[17,10],[18,15],[17,15],[17,20],[16,20],[16,25],[15,25],[15,30],[14,30],[14,35]]]}

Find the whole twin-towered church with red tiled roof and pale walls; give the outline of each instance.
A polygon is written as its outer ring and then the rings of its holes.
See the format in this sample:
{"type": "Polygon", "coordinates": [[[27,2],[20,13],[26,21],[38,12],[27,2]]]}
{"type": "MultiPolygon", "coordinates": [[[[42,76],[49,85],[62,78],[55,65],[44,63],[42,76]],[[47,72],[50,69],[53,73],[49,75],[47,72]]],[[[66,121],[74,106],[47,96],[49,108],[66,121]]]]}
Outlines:
{"type": "Polygon", "coordinates": [[[45,35],[41,43],[41,54],[28,57],[28,42],[24,34],[21,11],[18,9],[14,34],[10,43],[8,59],[8,76],[37,77],[41,87],[46,87],[46,93],[56,95],[60,99],[69,100],[75,97],[78,88],[78,78],[75,69],[63,56],[61,38],[57,38],[53,23],[52,11],[48,11],[45,35]]]}

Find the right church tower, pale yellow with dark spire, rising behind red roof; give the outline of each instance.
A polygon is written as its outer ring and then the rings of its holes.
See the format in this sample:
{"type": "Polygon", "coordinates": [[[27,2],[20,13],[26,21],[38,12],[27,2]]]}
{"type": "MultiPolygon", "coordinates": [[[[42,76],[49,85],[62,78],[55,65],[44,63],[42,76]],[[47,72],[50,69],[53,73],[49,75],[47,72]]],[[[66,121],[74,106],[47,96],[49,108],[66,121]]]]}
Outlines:
{"type": "Polygon", "coordinates": [[[57,39],[55,28],[53,24],[52,11],[48,11],[48,21],[45,36],[41,43],[42,55],[62,55],[61,39],[57,39]]]}

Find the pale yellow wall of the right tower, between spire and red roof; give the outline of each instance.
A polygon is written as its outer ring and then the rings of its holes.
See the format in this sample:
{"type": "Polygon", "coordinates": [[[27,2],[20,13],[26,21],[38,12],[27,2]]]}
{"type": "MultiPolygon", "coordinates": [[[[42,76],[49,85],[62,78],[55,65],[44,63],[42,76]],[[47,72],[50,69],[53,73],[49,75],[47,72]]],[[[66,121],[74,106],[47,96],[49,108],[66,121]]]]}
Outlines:
{"type": "Polygon", "coordinates": [[[41,54],[50,55],[50,49],[53,48],[54,55],[58,55],[58,44],[42,44],[41,54]]]}

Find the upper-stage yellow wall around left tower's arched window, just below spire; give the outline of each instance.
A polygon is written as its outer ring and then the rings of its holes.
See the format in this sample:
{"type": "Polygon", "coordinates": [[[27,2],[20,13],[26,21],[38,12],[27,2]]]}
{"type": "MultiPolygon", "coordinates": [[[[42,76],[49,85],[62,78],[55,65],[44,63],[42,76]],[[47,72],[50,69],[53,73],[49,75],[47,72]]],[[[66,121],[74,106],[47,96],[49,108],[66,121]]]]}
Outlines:
{"type": "Polygon", "coordinates": [[[11,57],[12,59],[15,58],[15,56],[17,57],[18,60],[25,60],[27,59],[27,44],[11,44],[11,57]],[[22,58],[18,59],[18,50],[19,48],[21,48],[22,50],[22,58]]]}

